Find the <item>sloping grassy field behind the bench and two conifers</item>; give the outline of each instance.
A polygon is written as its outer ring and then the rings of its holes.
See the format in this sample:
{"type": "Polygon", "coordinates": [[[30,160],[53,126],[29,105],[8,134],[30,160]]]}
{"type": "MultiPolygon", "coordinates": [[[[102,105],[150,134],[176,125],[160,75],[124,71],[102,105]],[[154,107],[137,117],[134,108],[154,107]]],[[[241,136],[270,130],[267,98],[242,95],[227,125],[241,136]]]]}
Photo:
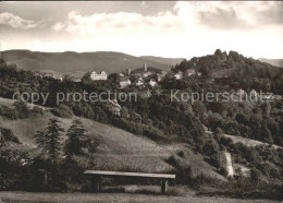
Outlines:
{"type": "MultiPolygon", "coordinates": [[[[61,121],[61,127],[66,131],[73,119],[58,118],[49,111],[37,118],[22,120],[8,120],[0,117],[0,126],[8,128],[23,142],[25,147],[35,148],[34,134],[47,127],[50,118],[61,121]]],[[[79,118],[89,136],[96,139],[100,144],[95,156],[95,169],[116,170],[116,171],[144,171],[144,172],[174,172],[174,167],[167,163],[170,156],[174,156],[181,165],[190,165],[195,174],[206,174],[219,179],[222,176],[217,174],[207,164],[200,154],[195,154],[184,143],[173,143],[160,145],[142,136],[134,135],[124,130],[102,124],[89,119],[79,118]],[[184,153],[184,157],[179,157],[179,152],[184,153]]]]}

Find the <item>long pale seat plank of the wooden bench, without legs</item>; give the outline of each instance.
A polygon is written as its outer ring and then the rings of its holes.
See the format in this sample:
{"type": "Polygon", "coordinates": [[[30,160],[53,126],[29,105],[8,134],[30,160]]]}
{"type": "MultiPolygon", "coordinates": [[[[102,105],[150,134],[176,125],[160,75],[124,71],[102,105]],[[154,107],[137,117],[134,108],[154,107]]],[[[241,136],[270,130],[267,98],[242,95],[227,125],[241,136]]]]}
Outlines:
{"type": "Polygon", "coordinates": [[[104,170],[86,170],[84,174],[100,175],[100,176],[128,176],[128,177],[175,179],[175,175],[168,175],[168,174],[121,172],[121,171],[104,171],[104,170]]]}

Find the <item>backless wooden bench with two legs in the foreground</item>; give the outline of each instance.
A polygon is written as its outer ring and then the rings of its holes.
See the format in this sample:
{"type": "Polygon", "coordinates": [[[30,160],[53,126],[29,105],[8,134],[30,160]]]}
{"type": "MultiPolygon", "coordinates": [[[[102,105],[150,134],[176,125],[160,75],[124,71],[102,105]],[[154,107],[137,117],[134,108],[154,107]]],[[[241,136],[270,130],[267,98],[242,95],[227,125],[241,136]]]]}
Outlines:
{"type": "Polygon", "coordinates": [[[168,190],[168,181],[175,179],[175,175],[167,174],[143,174],[143,172],[120,172],[120,171],[104,171],[104,170],[86,170],[85,175],[90,175],[91,184],[96,192],[101,190],[101,177],[139,177],[139,178],[157,178],[161,180],[161,193],[165,193],[168,190]]]}

